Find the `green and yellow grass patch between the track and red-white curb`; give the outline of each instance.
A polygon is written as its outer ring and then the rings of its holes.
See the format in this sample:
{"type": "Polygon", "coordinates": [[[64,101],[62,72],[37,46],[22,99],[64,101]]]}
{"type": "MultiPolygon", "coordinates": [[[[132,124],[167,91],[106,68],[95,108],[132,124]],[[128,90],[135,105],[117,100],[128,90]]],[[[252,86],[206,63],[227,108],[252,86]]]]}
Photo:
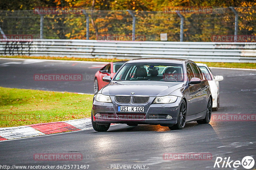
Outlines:
{"type": "Polygon", "coordinates": [[[93,95],[0,87],[0,127],[91,116],[93,95]]]}

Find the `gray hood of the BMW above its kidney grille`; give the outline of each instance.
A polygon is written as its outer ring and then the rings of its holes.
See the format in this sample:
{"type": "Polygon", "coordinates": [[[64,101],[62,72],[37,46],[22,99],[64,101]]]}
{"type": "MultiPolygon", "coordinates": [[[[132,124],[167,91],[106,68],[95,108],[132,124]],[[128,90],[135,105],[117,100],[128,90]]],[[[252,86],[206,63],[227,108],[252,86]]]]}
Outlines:
{"type": "Polygon", "coordinates": [[[109,96],[131,95],[132,92],[134,95],[165,96],[183,85],[183,82],[112,81],[101,90],[101,93],[109,96]]]}

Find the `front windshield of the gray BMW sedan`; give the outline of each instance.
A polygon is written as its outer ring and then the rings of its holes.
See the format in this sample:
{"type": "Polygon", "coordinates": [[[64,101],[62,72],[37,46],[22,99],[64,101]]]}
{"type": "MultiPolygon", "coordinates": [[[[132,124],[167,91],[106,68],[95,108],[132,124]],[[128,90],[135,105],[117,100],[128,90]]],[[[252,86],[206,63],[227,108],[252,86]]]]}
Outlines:
{"type": "Polygon", "coordinates": [[[116,74],[122,81],[183,81],[181,64],[172,63],[127,63],[116,74]]]}

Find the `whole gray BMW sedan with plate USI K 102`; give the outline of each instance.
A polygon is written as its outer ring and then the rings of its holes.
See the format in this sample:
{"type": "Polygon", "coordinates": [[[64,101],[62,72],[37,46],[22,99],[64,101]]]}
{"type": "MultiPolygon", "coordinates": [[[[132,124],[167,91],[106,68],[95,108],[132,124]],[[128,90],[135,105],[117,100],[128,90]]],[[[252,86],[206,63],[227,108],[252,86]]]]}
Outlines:
{"type": "Polygon", "coordinates": [[[111,123],[153,124],[183,129],[186,122],[211,120],[212,95],[207,79],[191,60],[144,58],[127,61],[93,97],[92,127],[111,123]]]}

